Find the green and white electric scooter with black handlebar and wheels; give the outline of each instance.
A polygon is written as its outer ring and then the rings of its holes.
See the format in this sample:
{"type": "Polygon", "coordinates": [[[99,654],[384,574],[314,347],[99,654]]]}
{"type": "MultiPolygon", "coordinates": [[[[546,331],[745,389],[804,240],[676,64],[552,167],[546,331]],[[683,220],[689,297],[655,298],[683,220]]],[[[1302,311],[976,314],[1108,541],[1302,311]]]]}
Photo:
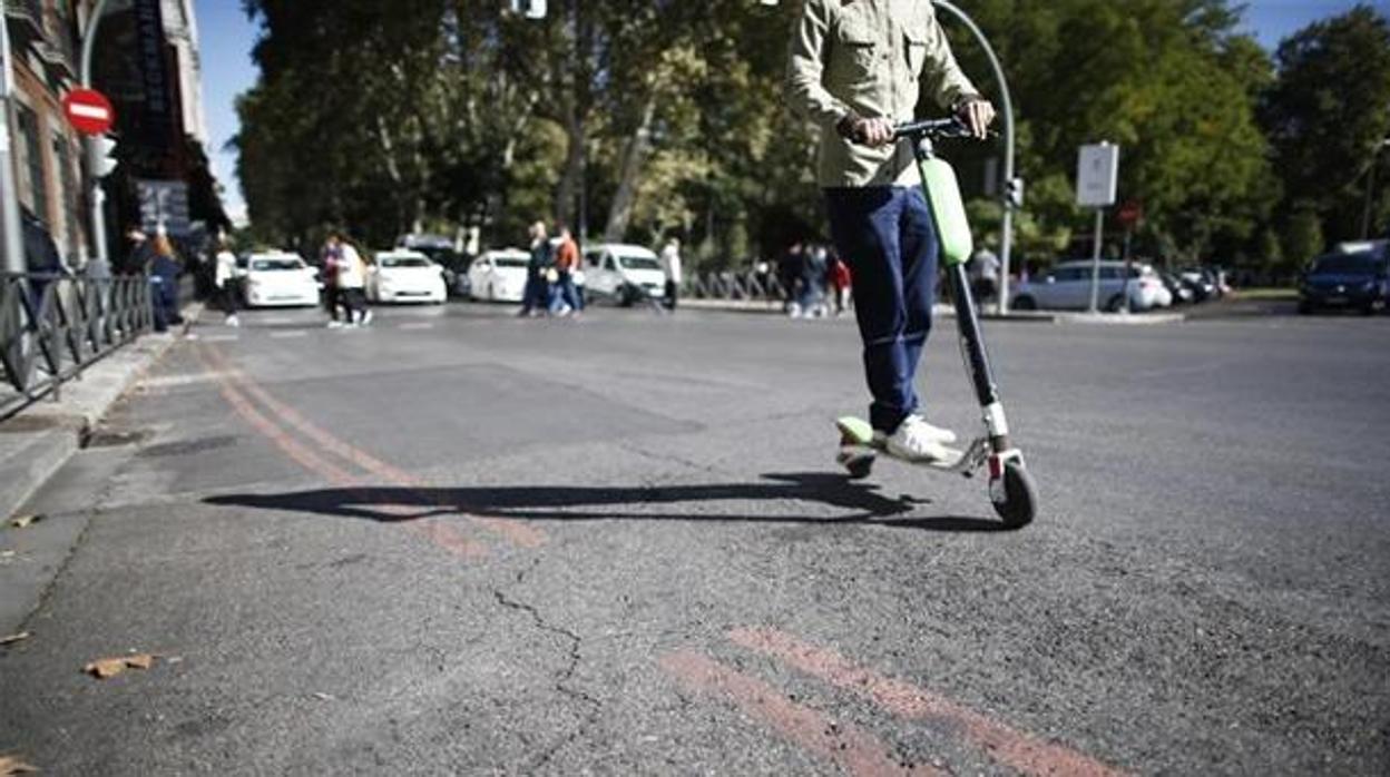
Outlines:
{"type": "MultiPolygon", "coordinates": [[[[922,190],[935,222],[937,238],[941,242],[941,264],[947,270],[951,296],[955,300],[960,353],[974,384],[976,398],[980,400],[984,430],[965,450],[948,449],[949,459],[909,463],[967,478],[988,467],[990,502],[994,505],[994,512],[1009,528],[1020,528],[1031,523],[1037,514],[1037,491],[1023,464],[1023,452],[1009,439],[1004,403],[984,349],[980,316],[965,268],[974,252],[970,222],[960,200],[955,170],[935,156],[935,140],[944,138],[972,138],[972,135],[956,118],[903,124],[894,132],[895,140],[910,140],[916,152],[917,168],[922,171],[922,190]]],[[[869,477],[877,456],[887,455],[883,443],[874,439],[873,427],[863,418],[855,417],[838,418],[835,425],[840,430],[840,453],[835,460],[845,467],[852,480],[869,477]]]]}

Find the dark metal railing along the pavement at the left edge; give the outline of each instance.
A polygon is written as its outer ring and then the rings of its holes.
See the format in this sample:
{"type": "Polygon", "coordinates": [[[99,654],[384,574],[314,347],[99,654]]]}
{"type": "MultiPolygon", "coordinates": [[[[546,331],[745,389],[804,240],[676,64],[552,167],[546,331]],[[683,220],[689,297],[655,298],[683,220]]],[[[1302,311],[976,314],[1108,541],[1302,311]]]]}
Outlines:
{"type": "Polygon", "coordinates": [[[0,272],[0,417],[150,329],[150,281],[0,272]]]}

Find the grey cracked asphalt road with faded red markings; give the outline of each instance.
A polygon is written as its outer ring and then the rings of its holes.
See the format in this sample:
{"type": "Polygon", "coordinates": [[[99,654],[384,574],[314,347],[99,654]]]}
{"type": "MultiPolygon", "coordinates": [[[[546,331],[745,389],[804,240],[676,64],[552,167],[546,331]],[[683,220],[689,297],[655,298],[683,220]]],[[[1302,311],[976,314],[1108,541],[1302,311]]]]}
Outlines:
{"type": "MultiPolygon", "coordinates": [[[[0,753],[1390,769],[1390,318],[991,324],[1042,500],[1005,532],[980,481],[840,477],[848,321],[509,313],[206,316],[33,505],[76,542],[0,648],[0,753]],[[81,673],[128,651],[154,666],[81,673]]],[[[940,325],[930,414],[973,428],[940,325]]]]}

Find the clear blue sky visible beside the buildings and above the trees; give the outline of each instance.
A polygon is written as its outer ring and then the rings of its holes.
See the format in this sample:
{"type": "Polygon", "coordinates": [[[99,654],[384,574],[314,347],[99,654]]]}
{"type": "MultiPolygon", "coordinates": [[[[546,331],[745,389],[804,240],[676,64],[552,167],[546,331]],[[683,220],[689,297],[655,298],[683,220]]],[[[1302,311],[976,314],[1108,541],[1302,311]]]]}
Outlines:
{"type": "MultiPolygon", "coordinates": [[[[1390,17],[1390,0],[1369,3],[1390,17]]],[[[1273,49],[1302,26],[1350,10],[1357,0],[1245,0],[1245,4],[1244,29],[1273,49]]],[[[213,171],[227,189],[227,213],[240,221],[246,203],[236,181],[236,153],[225,146],[238,131],[236,96],[256,85],[257,69],[250,53],[259,29],[242,13],[242,0],[196,0],[195,6],[202,35],[203,99],[211,132],[208,152],[213,171]]],[[[967,0],[962,6],[969,10],[967,0]]]]}

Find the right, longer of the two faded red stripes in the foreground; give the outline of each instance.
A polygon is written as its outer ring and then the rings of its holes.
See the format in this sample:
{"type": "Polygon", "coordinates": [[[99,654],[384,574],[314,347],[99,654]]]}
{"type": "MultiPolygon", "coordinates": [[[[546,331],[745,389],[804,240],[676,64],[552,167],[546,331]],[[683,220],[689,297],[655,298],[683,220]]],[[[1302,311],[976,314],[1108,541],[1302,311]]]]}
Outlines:
{"type": "Polygon", "coordinates": [[[744,648],[780,659],[831,685],[867,696],[890,713],[912,719],[934,717],[952,721],[960,727],[966,737],[987,749],[995,760],[1023,774],[1077,777],[1125,774],[1090,756],[990,720],[941,695],[859,669],[840,653],[808,645],[774,628],[735,628],[730,631],[728,638],[744,648]]]}

